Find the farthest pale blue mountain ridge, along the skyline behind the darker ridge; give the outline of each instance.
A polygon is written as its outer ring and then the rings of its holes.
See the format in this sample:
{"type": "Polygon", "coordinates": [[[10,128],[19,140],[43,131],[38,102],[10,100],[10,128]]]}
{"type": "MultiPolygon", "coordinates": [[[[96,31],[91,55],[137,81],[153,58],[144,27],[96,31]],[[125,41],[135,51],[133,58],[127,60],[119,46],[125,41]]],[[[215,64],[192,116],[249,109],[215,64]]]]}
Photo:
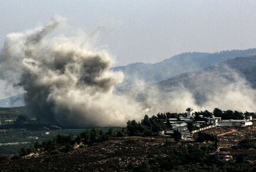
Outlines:
{"type": "Polygon", "coordinates": [[[146,84],[156,83],[181,73],[205,69],[238,56],[253,55],[256,55],[256,49],[225,50],[215,53],[182,53],[158,63],[132,63],[113,68],[113,70],[124,73],[124,82],[119,85],[119,88],[126,89],[127,86],[133,85],[136,79],[143,80],[146,84]]]}

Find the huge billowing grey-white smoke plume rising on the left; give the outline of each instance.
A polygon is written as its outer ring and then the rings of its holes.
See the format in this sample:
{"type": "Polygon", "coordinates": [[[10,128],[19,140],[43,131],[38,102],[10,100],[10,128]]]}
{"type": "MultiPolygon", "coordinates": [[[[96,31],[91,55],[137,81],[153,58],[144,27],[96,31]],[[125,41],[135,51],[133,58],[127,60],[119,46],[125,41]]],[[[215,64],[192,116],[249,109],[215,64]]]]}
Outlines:
{"type": "Polygon", "coordinates": [[[111,72],[106,50],[90,47],[87,36],[49,38],[64,19],[7,35],[1,52],[1,79],[24,89],[31,113],[44,122],[65,126],[124,126],[142,110],[133,100],[113,93],[123,73],[111,72]]]}

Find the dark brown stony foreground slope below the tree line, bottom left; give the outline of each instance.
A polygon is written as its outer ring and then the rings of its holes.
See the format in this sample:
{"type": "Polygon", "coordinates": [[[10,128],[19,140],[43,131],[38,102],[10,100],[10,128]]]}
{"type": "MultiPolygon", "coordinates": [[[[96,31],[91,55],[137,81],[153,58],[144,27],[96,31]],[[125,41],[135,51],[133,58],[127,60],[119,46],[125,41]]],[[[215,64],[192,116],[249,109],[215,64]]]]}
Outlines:
{"type": "Polygon", "coordinates": [[[149,154],[165,156],[174,144],[169,138],[110,140],[66,154],[22,160],[2,158],[0,171],[117,171],[126,168],[130,162],[142,163],[149,154]]]}

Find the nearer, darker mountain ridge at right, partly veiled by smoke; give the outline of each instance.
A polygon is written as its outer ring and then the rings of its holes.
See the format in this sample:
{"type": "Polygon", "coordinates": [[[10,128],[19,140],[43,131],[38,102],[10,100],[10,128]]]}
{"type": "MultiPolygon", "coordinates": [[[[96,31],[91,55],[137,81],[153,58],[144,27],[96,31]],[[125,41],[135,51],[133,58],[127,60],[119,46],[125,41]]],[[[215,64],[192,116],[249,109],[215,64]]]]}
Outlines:
{"type": "Polygon", "coordinates": [[[204,70],[182,73],[170,79],[147,85],[137,92],[136,99],[139,102],[144,102],[155,89],[159,91],[155,95],[150,95],[153,99],[171,99],[165,96],[181,90],[180,93],[188,91],[195,98],[197,104],[202,104],[209,100],[211,93],[217,92],[225,95],[226,92],[223,92],[222,89],[226,86],[227,92],[238,86],[241,90],[235,89],[235,91],[243,94],[243,90],[245,92],[247,89],[250,90],[247,85],[256,89],[256,56],[237,57],[204,70]],[[243,79],[246,79],[246,82],[243,79]]]}

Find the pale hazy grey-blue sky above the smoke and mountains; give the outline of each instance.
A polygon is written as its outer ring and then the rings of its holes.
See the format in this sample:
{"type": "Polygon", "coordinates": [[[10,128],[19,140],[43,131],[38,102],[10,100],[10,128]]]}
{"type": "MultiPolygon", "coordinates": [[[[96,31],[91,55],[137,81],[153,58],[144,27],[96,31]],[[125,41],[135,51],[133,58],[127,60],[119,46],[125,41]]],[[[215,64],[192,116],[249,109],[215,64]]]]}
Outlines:
{"type": "Polygon", "coordinates": [[[158,62],[182,52],[256,48],[256,1],[6,1],[0,45],[58,14],[74,30],[105,28],[99,45],[116,65],[158,62]],[[75,29],[76,28],[76,29],[75,29]]]}

